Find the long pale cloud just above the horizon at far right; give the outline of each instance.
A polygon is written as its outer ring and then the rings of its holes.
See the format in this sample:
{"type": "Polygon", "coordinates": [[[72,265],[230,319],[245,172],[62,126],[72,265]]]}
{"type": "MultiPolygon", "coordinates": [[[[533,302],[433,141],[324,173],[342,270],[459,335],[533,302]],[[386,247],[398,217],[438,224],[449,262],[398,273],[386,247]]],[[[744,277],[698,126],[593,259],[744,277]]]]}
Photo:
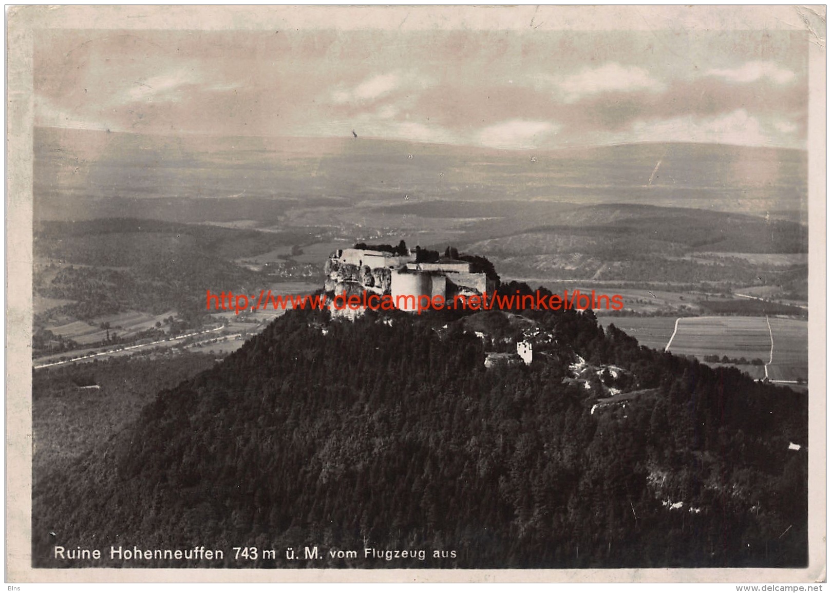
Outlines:
{"type": "Polygon", "coordinates": [[[712,117],[683,115],[669,119],[636,120],[616,135],[619,142],[708,142],[745,146],[787,146],[795,125],[784,120],[760,120],[739,109],[712,117]]]}

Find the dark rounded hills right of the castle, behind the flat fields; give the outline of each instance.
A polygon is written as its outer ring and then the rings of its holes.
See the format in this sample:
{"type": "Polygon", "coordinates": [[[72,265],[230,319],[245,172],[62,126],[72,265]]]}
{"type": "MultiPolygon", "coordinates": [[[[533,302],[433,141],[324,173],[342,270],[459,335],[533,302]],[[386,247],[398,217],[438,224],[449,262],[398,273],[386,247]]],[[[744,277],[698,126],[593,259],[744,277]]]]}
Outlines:
{"type": "Polygon", "coordinates": [[[807,288],[807,267],[802,263],[751,264],[735,257],[807,253],[808,228],[788,220],[621,203],[538,201],[520,208],[517,202],[436,201],[431,206],[379,210],[415,214],[428,225],[428,211],[436,217],[459,218],[456,243],[486,254],[508,277],[721,286],[757,285],[761,278],[774,277],[788,291],[802,294],[807,288]],[[696,252],[717,258],[704,260],[696,252]]]}

